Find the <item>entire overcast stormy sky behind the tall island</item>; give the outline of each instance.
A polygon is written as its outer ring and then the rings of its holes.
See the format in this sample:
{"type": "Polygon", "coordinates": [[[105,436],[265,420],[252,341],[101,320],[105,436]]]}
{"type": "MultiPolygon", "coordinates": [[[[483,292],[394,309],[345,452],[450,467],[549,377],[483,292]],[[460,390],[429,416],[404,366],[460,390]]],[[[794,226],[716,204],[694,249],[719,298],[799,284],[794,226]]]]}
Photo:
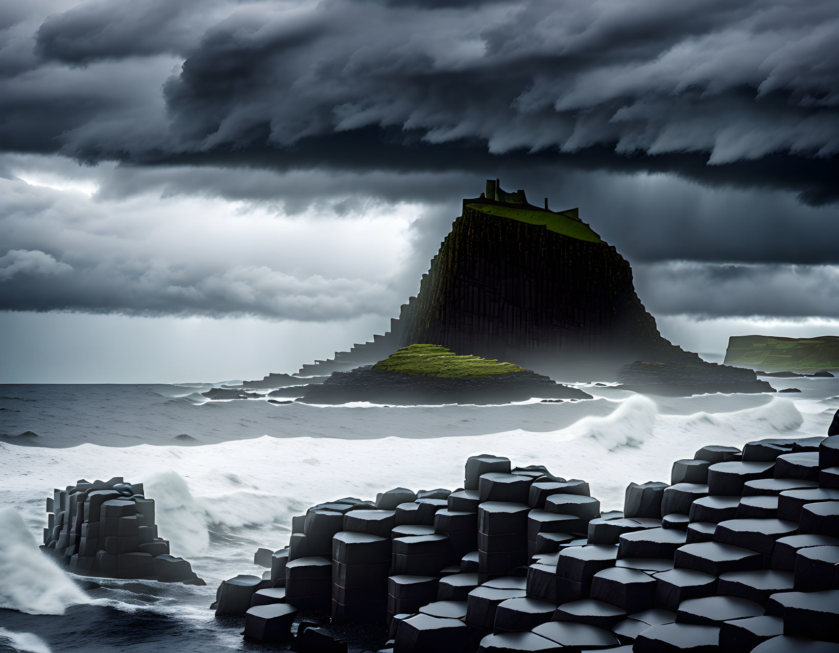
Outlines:
{"type": "Polygon", "coordinates": [[[0,382],[326,358],[495,177],[684,347],[839,335],[837,42],[837,0],[2,3],[0,382]]]}

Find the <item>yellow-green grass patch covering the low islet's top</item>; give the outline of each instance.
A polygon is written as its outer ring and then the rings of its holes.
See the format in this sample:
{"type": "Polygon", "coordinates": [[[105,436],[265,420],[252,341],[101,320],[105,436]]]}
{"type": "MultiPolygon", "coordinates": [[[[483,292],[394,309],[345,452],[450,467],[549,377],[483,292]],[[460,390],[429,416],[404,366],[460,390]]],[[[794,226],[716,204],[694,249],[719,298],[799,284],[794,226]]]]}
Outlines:
{"type": "Polygon", "coordinates": [[[527,372],[513,363],[498,363],[479,356],[458,356],[440,345],[409,345],[373,365],[383,372],[446,379],[486,379],[499,374],[527,372]]]}

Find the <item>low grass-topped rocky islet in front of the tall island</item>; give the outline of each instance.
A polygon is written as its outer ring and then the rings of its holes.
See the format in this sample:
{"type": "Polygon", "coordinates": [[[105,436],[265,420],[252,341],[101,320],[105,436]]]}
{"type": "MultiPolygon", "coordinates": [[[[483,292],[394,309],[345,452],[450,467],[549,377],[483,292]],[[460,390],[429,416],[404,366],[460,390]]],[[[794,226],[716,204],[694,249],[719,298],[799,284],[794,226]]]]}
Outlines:
{"type": "Polygon", "coordinates": [[[506,404],[540,399],[591,399],[580,389],[556,384],[513,363],[458,355],[446,347],[416,343],[375,365],[334,372],[310,385],[306,404],[506,404]]]}

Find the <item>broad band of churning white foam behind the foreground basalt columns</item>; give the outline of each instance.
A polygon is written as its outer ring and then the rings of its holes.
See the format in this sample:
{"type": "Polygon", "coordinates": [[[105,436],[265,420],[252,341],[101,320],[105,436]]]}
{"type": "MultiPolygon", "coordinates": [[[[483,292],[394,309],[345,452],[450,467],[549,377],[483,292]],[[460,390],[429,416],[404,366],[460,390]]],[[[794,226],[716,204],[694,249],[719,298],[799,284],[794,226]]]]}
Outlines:
{"type": "MultiPolygon", "coordinates": [[[[602,401],[591,404],[592,411],[602,410],[602,401]]],[[[0,476],[13,473],[15,486],[8,494],[32,525],[44,521],[43,504],[32,499],[55,483],[112,476],[142,481],[155,499],[160,535],[212,585],[222,574],[241,571],[255,546],[287,544],[291,515],[307,506],[343,496],[372,499],[397,486],[454,489],[463,482],[466,457],[474,454],[495,453],[517,465],[544,464],[565,478],[584,478],[603,509],[620,509],[628,483],[668,481],[672,462],[693,457],[703,445],[742,447],[762,437],[819,435],[829,423],[825,415],[802,413],[785,397],[744,410],[691,415],[665,414],[660,404],[640,395],[609,404],[608,415],[589,415],[546,432],[370,439],[286,435],[201,447],[84,444],[61,450],[0,443],[0,476]],[[224,535],[224,543],[211,533],[224,535]],[[231,567],[224,567],[222,558],[231,567]]],[[[743,403],[733,397],[731,405],[743,403]]],[[[31,536],[29,546],[37,552],[31,536]]]]}

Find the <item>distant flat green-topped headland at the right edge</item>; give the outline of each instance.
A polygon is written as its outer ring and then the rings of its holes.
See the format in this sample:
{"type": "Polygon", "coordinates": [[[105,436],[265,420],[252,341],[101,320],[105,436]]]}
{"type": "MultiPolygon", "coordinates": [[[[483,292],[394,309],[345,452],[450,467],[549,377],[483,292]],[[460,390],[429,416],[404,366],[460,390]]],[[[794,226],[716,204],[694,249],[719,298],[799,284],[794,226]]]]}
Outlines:
{"type": "Polygon", "coordinates": [[[839,369],[839,336],[732,336],[724,363],[768,372],[839,369]]]}

